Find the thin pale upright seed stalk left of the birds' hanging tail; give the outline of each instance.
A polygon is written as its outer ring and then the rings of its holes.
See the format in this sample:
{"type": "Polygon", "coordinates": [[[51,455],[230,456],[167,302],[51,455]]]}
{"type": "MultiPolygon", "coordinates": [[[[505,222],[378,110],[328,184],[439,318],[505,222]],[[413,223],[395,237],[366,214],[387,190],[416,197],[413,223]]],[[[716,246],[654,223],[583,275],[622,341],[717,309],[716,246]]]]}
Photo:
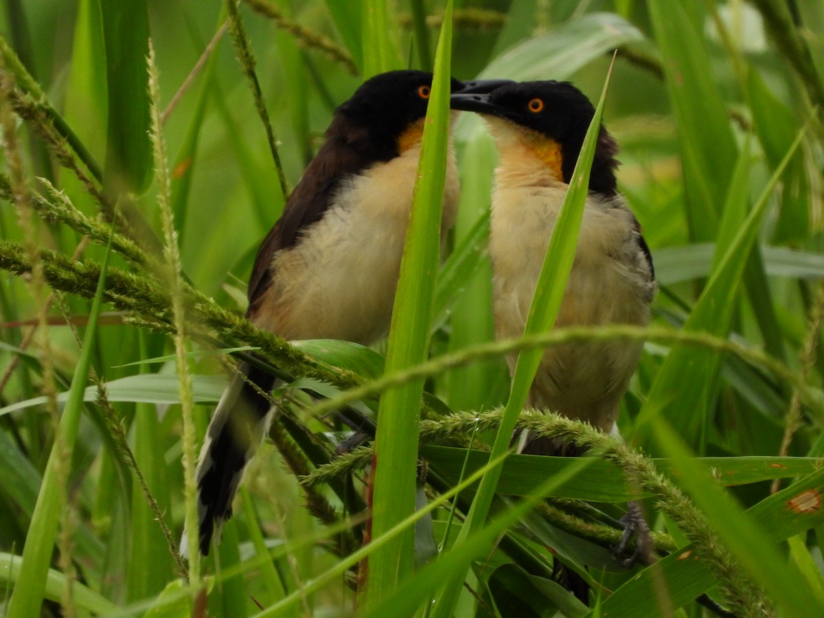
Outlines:
{"type": "Polygon", "coordinates": [[[185,307],[183,279],[181,277],[180,250],[177,246],[175,220],[171,213],[171,191],[169,174],[166,168],[166,152],[163,142],[162,123],[160,119],[160,91],[157,66],[155,64],[154,45],[149,40],[147,58],[149,72],[149,100],[152,117],[152,152],[154,155],[155,175],[157,177],[157,201],[161,209],[163,237],[166,241],[164,258],[166,275],[171,296],[171,312],[175,325],[175,351],[177,354],[177,379],[180,386],[180,407],[183,417],[183,473],[185,494],[185,521],[189,546],[189,584],[194,599],[200,594],[202,586],[200,576],[200,553],[198,546],[198,497],[194,468],[197,466],[197,438],[194,435],[194,395],[189,360],[186,358],[187,321],[189,316],[185,307]]]}

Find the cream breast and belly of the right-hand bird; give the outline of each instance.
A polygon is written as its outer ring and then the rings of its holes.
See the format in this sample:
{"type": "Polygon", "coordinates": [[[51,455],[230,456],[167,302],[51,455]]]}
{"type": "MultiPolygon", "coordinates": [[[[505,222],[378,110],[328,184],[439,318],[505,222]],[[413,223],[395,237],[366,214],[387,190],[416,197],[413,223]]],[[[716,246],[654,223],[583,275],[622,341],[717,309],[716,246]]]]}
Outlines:
{"type": "MultiPolygon", "coordinates": [[[[495,191],[489,251],[494,268],[494,313],[499,338],[521,335],[565,185],[495,191]]],[[[632,213],[590,196],[558,326],[639,324],[649,320],[648,274],[633,267],[632,213]]],[[[529,405],[588,420],[608,431],[618,401],[638,363],[640,344],[610,342],[548,349],[529,405]]],[[[508,358],[511,366],[515,358],[508,358]]]]}

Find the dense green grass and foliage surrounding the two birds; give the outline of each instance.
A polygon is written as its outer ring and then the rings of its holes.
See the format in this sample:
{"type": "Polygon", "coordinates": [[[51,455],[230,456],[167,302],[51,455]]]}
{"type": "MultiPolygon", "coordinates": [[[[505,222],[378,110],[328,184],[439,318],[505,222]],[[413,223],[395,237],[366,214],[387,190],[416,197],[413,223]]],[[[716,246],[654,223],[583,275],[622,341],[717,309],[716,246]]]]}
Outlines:
{"type": "MultiPolygon", "coordinates": [[[[442,616],[698,616],[702,594],[740,616],[822,611],[824,5],[456,2],[441,29],[446,8],[4,2],[0,588],[9,616],[36,614],[42,598],[46,616],[345,614],[358,559],[373,548],[396,557],[402,576],[382,572],[380,590],[360,599],[358,612],[376,616],[424,615],[433,599],[442,616]],[[455,77],[569,79],[593,101],[618,49],[603,117],[661,283],[649,330],[509,342],[646,339],[620,419],[627,443],[524,414],[521,424],[602,457],[509,457],[489,525],[460,536],[473,494],[453,500],[447,491],[485,471],[485,456],[467,457],[466,446],[489,450],[509,395],[503,346],[489,343],[495,155],[483,124],[461,117],[453,127],[461,211],[432,282],[432,319],[393,326],[394,339],[415,337],[424,349],[429,339],[429,363],[395,358],[377,380],[386,346],[296,349],[238,313],[255,250],[283,207],[282,184],[297,183],[332,110],[373,73],[431,69],[439,36],[452,39],[451,59],[438,59],[451,60],[455,77]],[[164,233],[170,215],[176,237],[164,233]],[[169,268],[171,246],[182,277],[169,268]],[[173,549],[186,510],[182,462],[196,454],[190,442],[199,443],[225,383],[231,359],[217,350],[242,356],[248,345],[294,386],[333,402],[276,393],[291,414],[246,475],[219,550],[184,563],[173,549]],[[180,405],[187,372],[192,395],[180,405]],[[372,456],[357,450],[329,464],[347,435],[329,412],[357,387],[348,414],[370,416],[380,392],[415,380],[424,381],[434,541],[425,525],[414,535],[424,548],[446,541],[412,573],[411,550],[392,536],[397,520],[358,549],[372,456]],[[626,570],[608,547],[620,537],[615,505],[633,497],[644,499],[662,560],[626,570]],[[555,557],[588,578],[590,607],[550,581],[555,557]]],[[[438,166],[435,157],[427,169],[438,166]]],[[[378,448],[415,452],[417,436],[406,433],[378,448]]],[[[384,485],[376,499],[403,505],[406,493],[384,485]]]]}

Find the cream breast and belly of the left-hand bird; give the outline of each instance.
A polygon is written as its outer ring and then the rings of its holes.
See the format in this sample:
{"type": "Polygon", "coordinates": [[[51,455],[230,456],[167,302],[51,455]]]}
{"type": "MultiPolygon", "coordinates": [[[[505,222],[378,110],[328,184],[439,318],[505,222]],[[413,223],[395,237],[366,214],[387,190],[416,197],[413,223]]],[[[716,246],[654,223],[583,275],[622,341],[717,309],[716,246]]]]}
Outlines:
{"type": "MultiPolygon", "coordinates": [[[[290,250],[274,256],[270,302],[256,321],[286,339],[371,344],[386,334],[412,206],[420,146],[372,166],[341,187],[335,204],[290,250]]],[[[456,216],[450,150],[442,231],[456,216]]]]}

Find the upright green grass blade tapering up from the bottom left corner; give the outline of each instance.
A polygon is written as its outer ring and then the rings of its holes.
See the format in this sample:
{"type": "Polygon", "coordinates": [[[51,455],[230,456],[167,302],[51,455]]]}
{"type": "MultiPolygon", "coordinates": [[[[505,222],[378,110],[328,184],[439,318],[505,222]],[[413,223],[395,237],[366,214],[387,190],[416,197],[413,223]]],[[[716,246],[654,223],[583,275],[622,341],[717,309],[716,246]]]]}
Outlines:
{"type": "Polygon", "coordinates": [[[110,251],[105,252],[101,265],[101,276],[97,282],[94,301],[91,303],[83,348],[75,368],[72,386],[68,391],[68,401],[60,419],[58,437],[54,441],[49,463],[40,486],[40,494],[35,504],[35,512],[26,535],[23,548],[23,562],[17,584],[12,592],[7,616],[10,618],[28,618],[40,613],[43,602],[49,563],[54,552],[54,539],[57,536],[60,512],[64,508],[65,487],[60,484],[59,466],[67,466],[71,461],[77,427],[83,409],[83,393],[94,353],[97,318],[101,313],[103,291],[105,289],[105,269],[109,262],[110,251]],[[67,457],[67,454],[69,455],[67,457]]]}

